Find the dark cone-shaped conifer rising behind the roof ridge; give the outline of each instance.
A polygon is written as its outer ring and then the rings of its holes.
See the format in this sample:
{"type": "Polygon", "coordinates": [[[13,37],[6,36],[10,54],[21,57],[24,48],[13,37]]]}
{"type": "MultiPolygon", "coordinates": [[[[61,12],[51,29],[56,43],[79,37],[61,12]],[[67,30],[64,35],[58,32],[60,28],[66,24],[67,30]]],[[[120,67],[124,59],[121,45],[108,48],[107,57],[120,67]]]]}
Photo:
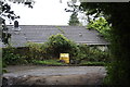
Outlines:
{"type": "Polygon", "coordinates": [[[77,15],[78,15],[78,14],[75,13],[75,12],[70,15],[68,25],[76,26],[76,25],[79,25],[79,24],[80,24],[79,21],[78,21],[77,15]]]}

